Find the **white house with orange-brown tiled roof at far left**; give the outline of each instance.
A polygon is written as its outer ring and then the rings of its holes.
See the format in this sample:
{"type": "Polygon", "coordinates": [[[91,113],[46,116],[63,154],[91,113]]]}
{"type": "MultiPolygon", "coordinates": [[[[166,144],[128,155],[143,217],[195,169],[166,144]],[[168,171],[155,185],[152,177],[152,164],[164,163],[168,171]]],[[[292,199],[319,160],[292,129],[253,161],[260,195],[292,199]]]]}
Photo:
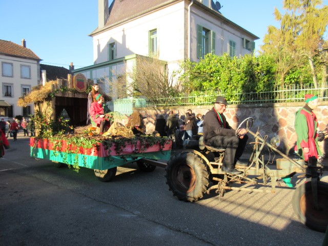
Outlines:
{"type": "Polygon", "coordinates": [[[18,107],[19,97],[29,93],[40,83],[40,58],[22,45],[0,39],[0,115],[15,117],[34,114],[33,105],[18,107]]]}

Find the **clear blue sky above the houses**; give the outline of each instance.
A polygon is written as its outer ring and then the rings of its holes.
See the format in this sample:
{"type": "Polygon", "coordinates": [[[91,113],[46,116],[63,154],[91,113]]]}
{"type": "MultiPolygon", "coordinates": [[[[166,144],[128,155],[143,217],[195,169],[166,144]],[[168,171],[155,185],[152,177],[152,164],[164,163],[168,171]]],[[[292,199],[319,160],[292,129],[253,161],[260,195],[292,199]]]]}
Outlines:
{"type": "MultiPolygon", "coordinates": [[[[256,50],[267,27],[279,26],[273,12],[275,7],[282,11],[282,0],[219,2],[225,17],[260,37],[256,50]]],[[[323,3],[327,5],[328,0],[323,3]]],[[[44,64],[68,68],[73,62],[75,68],[86,67],[93,65],[88,34],[98,26],[97,15],[97,0],[0,0],[0,39],[20,45],[24,38],[44,64]]]]}

